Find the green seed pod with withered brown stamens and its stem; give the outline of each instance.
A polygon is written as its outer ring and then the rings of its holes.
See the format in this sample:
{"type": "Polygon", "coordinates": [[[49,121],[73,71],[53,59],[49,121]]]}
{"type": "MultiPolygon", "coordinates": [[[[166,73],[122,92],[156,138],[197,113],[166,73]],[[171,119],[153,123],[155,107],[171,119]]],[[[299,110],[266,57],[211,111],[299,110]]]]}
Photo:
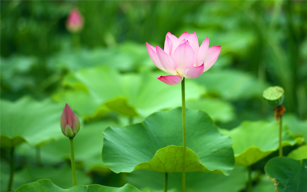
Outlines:
{"type": "Polygon", "coordinates": [[[284,100],[284,89],[279,86],[271,86],[266,88],[262,94],[263,98],[274,107],[274,118],[279,120],[279,134],[278,134],[278,145],[279,145],[279,156],[282,156],[282,116],[286,112],[286,108],[282,105],[284,100]]]}

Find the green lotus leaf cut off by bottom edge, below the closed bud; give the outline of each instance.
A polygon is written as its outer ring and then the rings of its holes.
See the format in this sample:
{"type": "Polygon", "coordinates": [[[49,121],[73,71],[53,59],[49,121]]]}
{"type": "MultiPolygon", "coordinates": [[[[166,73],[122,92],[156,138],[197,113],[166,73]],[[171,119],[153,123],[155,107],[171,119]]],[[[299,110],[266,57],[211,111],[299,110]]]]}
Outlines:
{"type": "Polygon", "coordinates": [[[49,179],[41,179],[36,182],[28,183],[20,186],[15,192],[33,192],[33,191],[41,191],[41,192],[140,192],[137,188],[130,184],[126,184],[122,187],[108,187],[103,185],[77,185],[68,189],[62,189],[59,186],[56,186],[49,179]]]}

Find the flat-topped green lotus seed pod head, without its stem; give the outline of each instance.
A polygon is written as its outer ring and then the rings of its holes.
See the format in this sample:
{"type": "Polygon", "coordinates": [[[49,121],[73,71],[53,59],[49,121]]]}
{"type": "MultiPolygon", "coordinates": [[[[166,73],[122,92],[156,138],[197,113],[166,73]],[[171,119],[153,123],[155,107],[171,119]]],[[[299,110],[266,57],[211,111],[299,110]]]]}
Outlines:
{"type": "Polygon", "coordinates": [[[279,86],[271,86],[263,91],[262,96],[272,107],[277,107],[284,100],[284,89],[279,86]]]}

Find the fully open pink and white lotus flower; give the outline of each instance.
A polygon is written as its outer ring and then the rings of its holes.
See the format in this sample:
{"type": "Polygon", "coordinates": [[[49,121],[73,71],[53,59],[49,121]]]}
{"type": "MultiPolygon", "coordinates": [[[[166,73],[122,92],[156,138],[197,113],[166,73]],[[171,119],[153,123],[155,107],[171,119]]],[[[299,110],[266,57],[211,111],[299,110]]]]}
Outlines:
{"type": "Polygon", "coordinates": [[[221,52],[221,46],[209,47],[208,37],[199,46],[195,32],[182,33],[179,38],[168,32],[164,50],[147,42],[146,47],[156,67],[170,74],[158,76],[157,79],[169,85],[180,83],[183,77],[199,77],[212,67],[221,52]]]}

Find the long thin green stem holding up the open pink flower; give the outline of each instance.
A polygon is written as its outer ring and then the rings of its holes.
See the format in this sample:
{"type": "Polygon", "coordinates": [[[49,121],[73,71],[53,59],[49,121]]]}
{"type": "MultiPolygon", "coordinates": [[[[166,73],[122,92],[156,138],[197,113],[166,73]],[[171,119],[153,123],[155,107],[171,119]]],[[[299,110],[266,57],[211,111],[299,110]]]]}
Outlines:
{"type": "Polygon", "coordinates": [[[181,191],[185,192],[185,151],[187,147],[187,131],[185,123],[185,78],[181,81],[181,98],[182,98],[182,188],[181,191]]]}

